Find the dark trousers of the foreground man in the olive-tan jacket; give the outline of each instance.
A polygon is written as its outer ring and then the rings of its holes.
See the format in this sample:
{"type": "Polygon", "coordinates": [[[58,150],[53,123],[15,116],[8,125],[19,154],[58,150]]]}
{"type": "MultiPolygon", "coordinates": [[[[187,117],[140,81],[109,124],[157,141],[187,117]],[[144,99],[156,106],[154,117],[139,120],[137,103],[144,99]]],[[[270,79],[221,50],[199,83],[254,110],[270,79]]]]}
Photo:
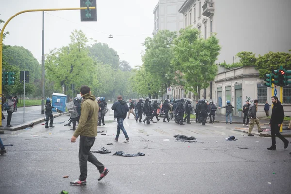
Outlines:
{"type": "Polygon", "coordinates": [[[95,142],[95,137],[86,137],[80,135],[79,144],[79,167],[80,177],[79,180],[84,181],[87,178],[87,161],[91,162],[97,167],[100,173],[104,171],[104,165],[97,160],[97,158],[90,152],[91,147],[95,142]]]}

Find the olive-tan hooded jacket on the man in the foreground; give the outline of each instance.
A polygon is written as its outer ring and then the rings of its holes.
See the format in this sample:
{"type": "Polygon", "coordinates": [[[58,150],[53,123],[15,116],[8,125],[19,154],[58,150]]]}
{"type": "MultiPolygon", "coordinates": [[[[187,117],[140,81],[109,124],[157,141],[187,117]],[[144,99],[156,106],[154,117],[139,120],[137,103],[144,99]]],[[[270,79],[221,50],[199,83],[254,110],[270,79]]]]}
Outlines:
{"type": "Polygon", "coordinates": [[[78,123],[78,128],[74,132],[77,138],[79,135],[86,137],[97,136],[97,122],[98,122],[99,105],[95,97],[91,94],[83,95],[81,103],[81,116],[78,123]]]}

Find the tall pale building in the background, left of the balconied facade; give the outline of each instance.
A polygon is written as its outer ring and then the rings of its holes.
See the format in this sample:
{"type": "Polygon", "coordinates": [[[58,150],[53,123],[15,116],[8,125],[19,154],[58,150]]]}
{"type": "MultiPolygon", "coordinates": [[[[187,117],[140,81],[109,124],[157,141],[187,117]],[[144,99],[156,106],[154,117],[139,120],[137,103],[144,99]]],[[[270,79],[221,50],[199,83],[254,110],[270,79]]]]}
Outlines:
{"type": "Polygon", "coordinates": [[[159,30],[177,31],[184,27],[184,16],[179,12],[185,0],[159,0],[154,14],[154,32],[159,30]]]}

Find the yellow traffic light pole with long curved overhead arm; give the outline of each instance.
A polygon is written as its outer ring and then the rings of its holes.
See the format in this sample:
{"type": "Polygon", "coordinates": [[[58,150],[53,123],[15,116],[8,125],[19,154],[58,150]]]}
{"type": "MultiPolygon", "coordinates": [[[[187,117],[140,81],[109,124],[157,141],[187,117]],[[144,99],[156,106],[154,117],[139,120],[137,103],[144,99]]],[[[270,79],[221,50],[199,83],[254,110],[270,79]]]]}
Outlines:
{"type": "MultiPolygon", "coordinates": [[[[0,35],[0,110],[2,110],[2,60],[3,60],[3,35],[4,30],[7,24],[13,19],[14,17],[18,16],[19,14],[23,14],[26,12],[42,12],[42,11],[64,11],[64,10],[83,10],[88,9],[88,7],[77,7],[77,8],[56,8],[56,9],[29,9],[23,10],[21,12],[16,13],[15,15],[11,16],[4,24],[1,35],[0,35]]],[[[89,7],[89,9],[96,9],[96,7],[89,7]]],[[[2,114],[0,114],[0,126],[2,126],[2,114]]]]}

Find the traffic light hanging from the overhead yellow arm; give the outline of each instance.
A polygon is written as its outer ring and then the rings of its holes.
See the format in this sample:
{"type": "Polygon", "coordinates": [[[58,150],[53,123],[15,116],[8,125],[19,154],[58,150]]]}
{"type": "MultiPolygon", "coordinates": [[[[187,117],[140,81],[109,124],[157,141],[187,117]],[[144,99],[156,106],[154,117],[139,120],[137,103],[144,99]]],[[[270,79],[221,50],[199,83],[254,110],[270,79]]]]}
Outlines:
{"type": "Polygon", "coordinates": [[[87,7],[80,10],[81,21],[97,21],[96,0],[80,0],[80,7],[87,7]],[[89,9],[89,7],[95,7],[95,9],[89,9]]]}

